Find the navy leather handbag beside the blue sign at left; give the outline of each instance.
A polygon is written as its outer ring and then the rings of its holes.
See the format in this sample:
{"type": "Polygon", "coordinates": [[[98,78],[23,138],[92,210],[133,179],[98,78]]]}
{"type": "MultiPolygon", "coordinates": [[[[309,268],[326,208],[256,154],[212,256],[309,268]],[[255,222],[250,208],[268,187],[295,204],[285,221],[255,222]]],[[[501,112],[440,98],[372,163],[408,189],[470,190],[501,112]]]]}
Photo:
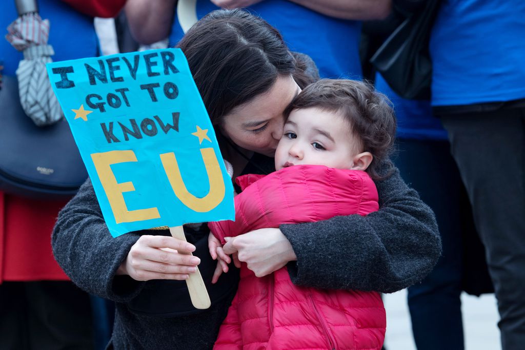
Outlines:
{"type": "Polygon", "coordinates": [[[16,77],[2,77],[0,150],[0,190],[6,193],[63,199],[88,177],[67,121],[36,126],[20,105],[16,77]]]}

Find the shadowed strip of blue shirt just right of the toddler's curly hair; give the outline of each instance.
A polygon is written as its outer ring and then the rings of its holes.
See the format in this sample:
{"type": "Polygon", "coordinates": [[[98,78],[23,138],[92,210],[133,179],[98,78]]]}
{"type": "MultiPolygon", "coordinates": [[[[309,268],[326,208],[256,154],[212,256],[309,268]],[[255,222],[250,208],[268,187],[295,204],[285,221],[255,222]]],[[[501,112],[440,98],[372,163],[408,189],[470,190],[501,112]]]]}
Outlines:
{"type": "Polygon", "coordinates": [[[378,73],[375,88],[393,103],[397,118],[397,137],[416,140],[448,140],[441,121],[432,114],[430,101],[407,100],[399,97],[378,73]]]}

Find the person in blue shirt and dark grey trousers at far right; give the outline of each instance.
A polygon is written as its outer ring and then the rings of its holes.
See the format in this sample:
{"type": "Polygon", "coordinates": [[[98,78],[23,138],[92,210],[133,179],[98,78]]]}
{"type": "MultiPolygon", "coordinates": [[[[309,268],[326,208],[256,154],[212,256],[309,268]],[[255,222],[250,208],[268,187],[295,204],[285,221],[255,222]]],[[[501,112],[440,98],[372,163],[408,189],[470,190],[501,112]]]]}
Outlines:
{"type": "Polygon", "coordinates": [[[525,2],[443,0],[430,37],[433,113],[486,247],[503,350],[525,344],[525,2]]]}

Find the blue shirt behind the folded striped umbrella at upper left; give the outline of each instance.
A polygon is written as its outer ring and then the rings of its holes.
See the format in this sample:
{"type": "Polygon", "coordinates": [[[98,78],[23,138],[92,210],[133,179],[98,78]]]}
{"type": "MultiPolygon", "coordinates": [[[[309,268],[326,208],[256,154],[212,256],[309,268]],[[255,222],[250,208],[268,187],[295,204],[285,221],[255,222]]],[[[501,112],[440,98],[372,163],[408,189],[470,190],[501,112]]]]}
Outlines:
{"type": "MultiPolygon", "coordinates": [[[[24,58],[5,39],[7,26],[18,18],[15,2],[2,2],[0,10],[0,61],[3,62],[6,76],[15,76],[18,62],[24,58]]],[[[53,46],[53,61],[63,61],[82,57],[98,56],[98,38],[93,27],[93,18],[79,13],[74,8],[57,0],[39,0],[39,14],[42,19],[49,19],[50,30],[48,44],[53,46]]],[[[0,92],[1,93],[1,92],[0,92]]]]}

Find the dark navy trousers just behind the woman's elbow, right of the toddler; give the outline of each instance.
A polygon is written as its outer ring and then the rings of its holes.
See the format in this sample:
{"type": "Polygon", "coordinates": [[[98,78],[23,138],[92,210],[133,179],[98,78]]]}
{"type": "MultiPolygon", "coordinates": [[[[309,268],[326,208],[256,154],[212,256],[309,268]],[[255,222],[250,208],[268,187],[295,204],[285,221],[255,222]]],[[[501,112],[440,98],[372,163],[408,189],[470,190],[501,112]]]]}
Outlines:
{"type": "Polygon", "coordinates": [[[470,206],[448,141],[398,139],[394,162],[406,183],[436,214],[443,254],[421,282],[408,288],[408,309],[419,350],[463,350],[461,282],[463,234],[470,206]]]}

